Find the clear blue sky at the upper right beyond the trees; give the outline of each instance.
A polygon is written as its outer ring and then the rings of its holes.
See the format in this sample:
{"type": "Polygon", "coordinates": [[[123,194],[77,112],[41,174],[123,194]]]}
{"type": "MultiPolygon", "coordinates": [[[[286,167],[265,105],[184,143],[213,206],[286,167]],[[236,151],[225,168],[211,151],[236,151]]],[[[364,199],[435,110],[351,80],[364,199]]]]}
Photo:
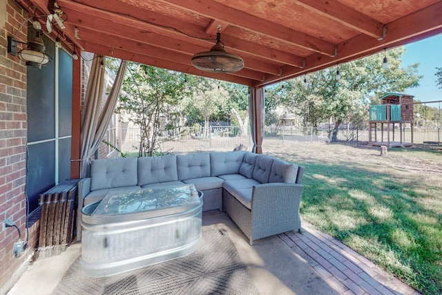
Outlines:
{"type": "Polygon", "coordinates": [[[422,79],[416,88],[408,88],[404,93],[414,95],[421,102],[442,100],[442,89],[436,86],[436,67],[442,68],[442,34],[405,45],[402,66],[419,64],[422,79]]]}

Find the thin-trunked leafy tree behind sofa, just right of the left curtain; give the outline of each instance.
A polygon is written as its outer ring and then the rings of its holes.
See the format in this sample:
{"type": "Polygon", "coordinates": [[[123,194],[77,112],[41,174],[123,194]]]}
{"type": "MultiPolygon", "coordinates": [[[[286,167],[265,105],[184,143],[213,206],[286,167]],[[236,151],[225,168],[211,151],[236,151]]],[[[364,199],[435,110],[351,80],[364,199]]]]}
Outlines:
{"type": "Polygon", "coordinates": [[[160,116],[166,115],[169,122],[180,117],[177,106],[186,95],[184,80],[182,73],[128,64],[117,111],[125,111],[128,119],[140,127],[140,157],[152,156],[157,149],[160,116]]]}

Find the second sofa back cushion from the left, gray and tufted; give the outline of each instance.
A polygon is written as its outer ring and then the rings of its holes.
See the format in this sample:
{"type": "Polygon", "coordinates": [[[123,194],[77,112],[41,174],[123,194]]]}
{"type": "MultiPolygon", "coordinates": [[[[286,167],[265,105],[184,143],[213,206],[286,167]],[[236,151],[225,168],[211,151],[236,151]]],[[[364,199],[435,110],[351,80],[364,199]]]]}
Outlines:
{"type": "Polygon", "coordinates": [[[176,155],[138,158],[138,185],[177,180],[176,155]]]}

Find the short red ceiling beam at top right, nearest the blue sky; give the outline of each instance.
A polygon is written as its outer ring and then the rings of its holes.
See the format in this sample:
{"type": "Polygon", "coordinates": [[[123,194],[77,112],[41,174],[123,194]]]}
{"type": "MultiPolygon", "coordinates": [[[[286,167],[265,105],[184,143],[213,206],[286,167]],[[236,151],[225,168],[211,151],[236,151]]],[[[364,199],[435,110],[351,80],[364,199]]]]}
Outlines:
{"type": "Polygon", "coordinates": [[[354,10],[338,0],[296,0],[299,6],[318,15],[332,19],[343,26],[352,28],[365,35],[380,39],[383,37],[383,24],[361,12],[354,10]]]}

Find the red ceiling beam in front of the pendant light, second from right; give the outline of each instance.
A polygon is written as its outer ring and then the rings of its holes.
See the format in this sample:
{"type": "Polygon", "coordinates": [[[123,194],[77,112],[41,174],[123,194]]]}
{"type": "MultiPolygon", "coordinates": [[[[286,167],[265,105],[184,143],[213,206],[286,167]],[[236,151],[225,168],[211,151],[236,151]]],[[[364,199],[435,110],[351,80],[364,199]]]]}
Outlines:
{"type": "Polygon", "coordinates": [[[233,26],[244,28],[256,34],[289,43],[314,53],[332,56],[335,53],[334,44],[323,39],[312,37],[303,32],[281,26],[278,23],[254,17],[246,12],[236,10],[213,0],[159,0],[158,2],[174,3],[177,8],[186,8],[198,15],[208,18],[222,19],[233,26]]]}

